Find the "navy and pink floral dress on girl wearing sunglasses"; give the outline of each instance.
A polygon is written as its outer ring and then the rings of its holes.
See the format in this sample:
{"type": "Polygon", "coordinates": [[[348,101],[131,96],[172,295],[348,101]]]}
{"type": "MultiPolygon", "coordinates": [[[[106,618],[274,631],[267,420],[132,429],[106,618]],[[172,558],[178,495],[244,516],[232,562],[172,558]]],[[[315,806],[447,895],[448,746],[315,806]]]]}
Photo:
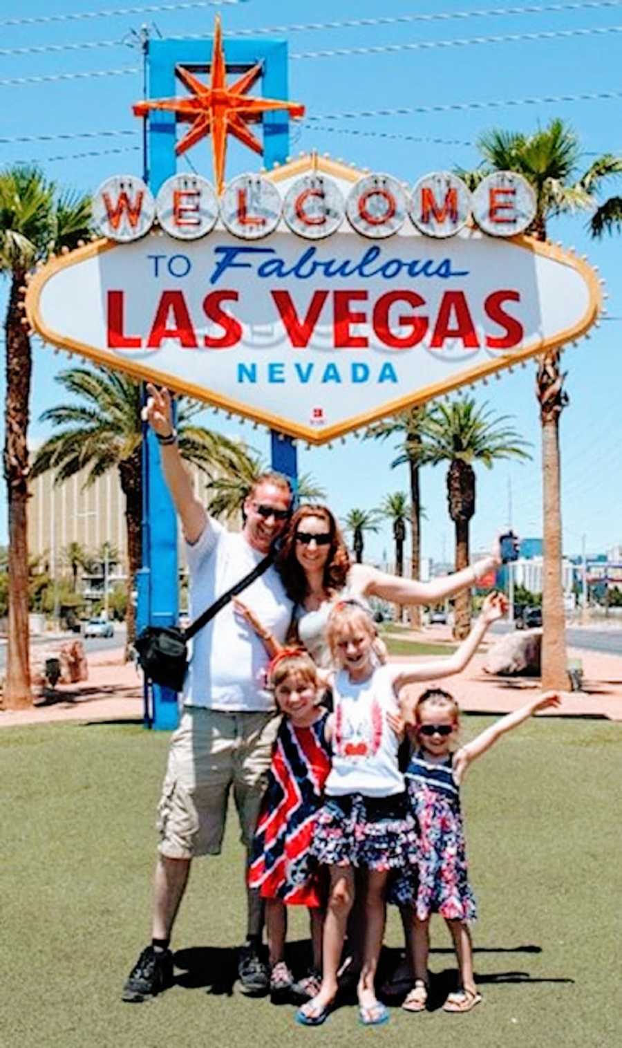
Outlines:
{"type": "Polygon", "coordinates": [[[474,920],[452,757],[432,763],[419,750],[410,758],[405,778],[410,810],[419,824],[419,876],[413,900],[417,917],[426,920],[438,913],[448,920],[474,920]]]}

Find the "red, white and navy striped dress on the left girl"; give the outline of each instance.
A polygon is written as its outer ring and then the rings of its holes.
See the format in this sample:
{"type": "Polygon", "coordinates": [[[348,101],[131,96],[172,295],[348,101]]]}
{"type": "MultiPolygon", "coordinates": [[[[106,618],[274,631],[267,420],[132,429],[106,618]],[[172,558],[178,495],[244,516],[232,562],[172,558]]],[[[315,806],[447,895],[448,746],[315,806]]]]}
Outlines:
{"type": "Polygon", "coordinates": [[[328,711],[310,727],[284,717],[252,842],[248,885],[288,905],[321,905],[317,863],[310,846],[331,769],[328,711]]]}

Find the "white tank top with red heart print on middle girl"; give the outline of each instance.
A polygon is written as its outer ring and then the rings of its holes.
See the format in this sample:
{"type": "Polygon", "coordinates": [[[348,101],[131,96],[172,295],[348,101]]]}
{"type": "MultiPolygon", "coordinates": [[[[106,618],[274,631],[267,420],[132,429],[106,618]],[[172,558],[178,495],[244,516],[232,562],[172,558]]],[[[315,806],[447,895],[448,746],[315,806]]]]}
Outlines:
{"type": "Polygon", "coordinates": [[[386,720],[387,713],[399,713],[391,669],[378,667],[361,683],[353,683],[345,670],[339,671],[333,698],[333,761],[326,794],[401,793],[404,777],[398,768],[399,742],[386,720]]]}

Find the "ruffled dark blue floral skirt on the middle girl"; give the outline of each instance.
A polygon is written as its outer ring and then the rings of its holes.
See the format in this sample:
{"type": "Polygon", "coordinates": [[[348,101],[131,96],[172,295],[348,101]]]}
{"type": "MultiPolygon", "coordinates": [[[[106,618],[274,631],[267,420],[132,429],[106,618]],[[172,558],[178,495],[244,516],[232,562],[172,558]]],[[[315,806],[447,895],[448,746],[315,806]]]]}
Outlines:
{"type": "Polygon", "coordinates": [[[417,824],[405,793],[328,799],[317,814],[311,853],[327,866],[402,871],[416,861],[417,824]]]}

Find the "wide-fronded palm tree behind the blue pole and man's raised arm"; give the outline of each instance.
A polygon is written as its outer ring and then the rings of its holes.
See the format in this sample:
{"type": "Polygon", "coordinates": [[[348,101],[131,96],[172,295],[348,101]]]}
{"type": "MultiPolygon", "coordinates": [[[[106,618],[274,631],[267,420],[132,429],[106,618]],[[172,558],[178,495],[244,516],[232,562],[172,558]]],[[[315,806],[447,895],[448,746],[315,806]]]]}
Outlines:
{"type": "MultiPolygon", "coordinates": [[[[86,486],[90,486],[108,470],[118,471],[126,499],[129,652],[135,635],[131,594],[141,556],[140,384],[104,368],[72,368],[61,372],[57,380],[67,393],[83,402],[49,408],[43,413],[42,421],[50,421],[60,429],[39,449],[31,476],[38,477],[54,470],[54,483],[61,484],[81,470],[88,468],[86,486]]],[[[202,410],[202,405],[183,399],[179,401],[177,431],[182,456],[205,472],[234,468],[234,464],[236,468],[244,468],[246,456],[237,444],[192,423],[193,417],[202,410]]]]}

